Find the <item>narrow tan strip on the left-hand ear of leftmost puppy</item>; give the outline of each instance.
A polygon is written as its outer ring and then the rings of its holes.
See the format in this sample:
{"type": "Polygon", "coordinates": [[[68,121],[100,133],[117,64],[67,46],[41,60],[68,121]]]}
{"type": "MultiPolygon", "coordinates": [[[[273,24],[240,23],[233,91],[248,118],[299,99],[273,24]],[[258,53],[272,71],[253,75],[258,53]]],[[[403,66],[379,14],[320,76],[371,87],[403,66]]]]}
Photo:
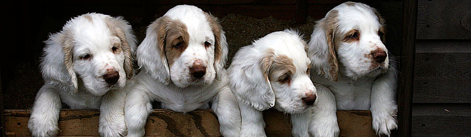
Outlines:
{"type": "Polygon", "coordinates": [[[74,94],[78,93],[78,82],[77,82],[77,75],[74,71],[74,57],[73,57],[73,49],[74,46],[72,45],[72,36],[67,32],[63,32],[61,39],[62,45],[62,52],[64,52],[64,65],[67,69],[67,72],[70,75],[70,82],[72,82],[72,91],[74,94]]]}

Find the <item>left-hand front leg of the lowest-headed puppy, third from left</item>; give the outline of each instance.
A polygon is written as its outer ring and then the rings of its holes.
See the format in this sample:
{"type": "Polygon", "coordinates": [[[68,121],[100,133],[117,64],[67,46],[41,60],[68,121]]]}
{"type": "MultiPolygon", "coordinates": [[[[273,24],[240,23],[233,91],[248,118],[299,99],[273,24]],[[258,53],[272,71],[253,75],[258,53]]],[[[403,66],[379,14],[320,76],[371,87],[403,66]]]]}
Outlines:
{"type": "Polygon", "coordinates": [[[242,117],[239,137],[266,137],[262,111],[242,102],[239,102],[239,109],[242,117]]]}

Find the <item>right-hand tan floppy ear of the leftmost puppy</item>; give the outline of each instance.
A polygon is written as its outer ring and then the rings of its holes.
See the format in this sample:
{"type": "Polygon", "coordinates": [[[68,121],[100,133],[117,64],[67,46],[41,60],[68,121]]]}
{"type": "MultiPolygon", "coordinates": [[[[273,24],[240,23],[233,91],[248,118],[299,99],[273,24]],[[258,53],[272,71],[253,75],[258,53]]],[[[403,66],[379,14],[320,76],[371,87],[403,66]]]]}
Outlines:
{"type": "Polygon", "coordinates": [[[126,22],[123,17],[110,17],[106,23],[113,34],[116,35],[121,41],[121,49],[125,55],[124,71],[126,72],[126,78],[130,80],[134,75],[132,62],[134,61],[133,53],[136,48],[136,39],[132,33],[131,25],[129,25],[129,23],[126,22]]]}

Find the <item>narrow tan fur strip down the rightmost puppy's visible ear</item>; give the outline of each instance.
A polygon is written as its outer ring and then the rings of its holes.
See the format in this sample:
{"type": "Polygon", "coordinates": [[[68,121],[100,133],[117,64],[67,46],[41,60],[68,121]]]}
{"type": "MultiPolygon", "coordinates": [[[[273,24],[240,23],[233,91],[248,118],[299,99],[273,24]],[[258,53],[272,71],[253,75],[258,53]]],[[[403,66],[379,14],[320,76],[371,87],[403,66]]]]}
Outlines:
{"type": "Polygon", "coordinates": [[[325,21],[326,21],[326,38],[327,38],[327,45],[329,46],[329,65],[330,65],[330,70],[329,70],[329,75],[332,81],[337,81],[337,75],[339,73],[339,63],[337,60],[337,53],[336,53],[336,48],[335,48],[335,31],[337,28],[337,10],[332,10],[329,12],[327,15],[325,21]]]}

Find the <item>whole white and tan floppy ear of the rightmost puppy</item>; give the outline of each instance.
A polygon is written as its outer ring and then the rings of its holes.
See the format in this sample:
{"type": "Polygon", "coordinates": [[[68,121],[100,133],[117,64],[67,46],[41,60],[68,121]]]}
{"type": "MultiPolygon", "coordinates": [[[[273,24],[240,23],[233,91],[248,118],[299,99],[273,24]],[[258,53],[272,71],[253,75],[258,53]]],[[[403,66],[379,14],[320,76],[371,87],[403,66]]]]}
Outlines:
{"type": "Polygon", "coordinates": [[[309,42],[309,58],[317,74],[331,81],[337,81],[339,65],[335,50],[335,31],[338,27],[338,11],[331,10],[327,16],[318,21],[309,42]]]}

